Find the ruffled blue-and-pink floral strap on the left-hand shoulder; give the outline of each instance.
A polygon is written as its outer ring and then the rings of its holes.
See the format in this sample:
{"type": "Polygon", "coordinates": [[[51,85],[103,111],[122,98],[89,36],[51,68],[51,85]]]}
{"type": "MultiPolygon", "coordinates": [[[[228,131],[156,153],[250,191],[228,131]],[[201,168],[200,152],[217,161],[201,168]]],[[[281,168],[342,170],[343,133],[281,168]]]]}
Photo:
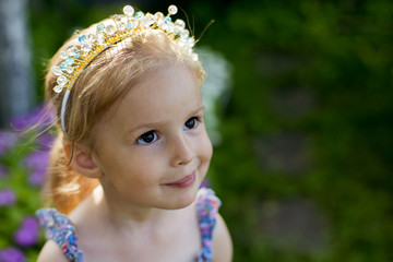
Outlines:
{"type": "Polygon", "coordinates": [[[47,239],[56,241],[70,261],[83,261],[83,252],[78,248],[75,228],[70,218],[56,209],[38,210],[36,216],[45,228],[47,239]]]}

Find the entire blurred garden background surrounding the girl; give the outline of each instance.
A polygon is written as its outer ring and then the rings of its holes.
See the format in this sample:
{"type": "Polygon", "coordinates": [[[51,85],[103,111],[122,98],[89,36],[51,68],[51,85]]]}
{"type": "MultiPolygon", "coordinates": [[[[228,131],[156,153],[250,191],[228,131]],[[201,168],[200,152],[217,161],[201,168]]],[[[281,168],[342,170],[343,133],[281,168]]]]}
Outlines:
{"type": "Polygon", "coordinates": [[[0,0],[0,261],[35,261],[45,64],[124,4],[189,21],[234,261],[393,261],[393,2],[0,0]],[[28,135],[27,135],[28,136],[28,135]],[[27,146],[26,146],[27,145],[27,146]]]}

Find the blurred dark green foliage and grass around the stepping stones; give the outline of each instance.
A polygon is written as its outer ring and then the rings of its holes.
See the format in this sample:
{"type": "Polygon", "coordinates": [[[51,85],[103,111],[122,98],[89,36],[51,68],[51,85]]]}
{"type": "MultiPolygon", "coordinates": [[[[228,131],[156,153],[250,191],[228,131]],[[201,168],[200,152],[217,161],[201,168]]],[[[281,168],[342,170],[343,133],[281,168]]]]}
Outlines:
{"type": "MultiPolygon", "coordinates": [[[[79,26],[123,4],[32,1],[40,97],[43,63],[79,26]]],[[[223,52],[234,66],[230,99],[218,112],[223,143],[209,176],[224,203],[235,261],[392,261],[393,2],[177,4],[196,37],[215,20],[199,45],[223,52]],[[299,90],[310,94],[311,105],[294,116],[303,105],[279,98],[299,90]],[[302,134],[310,155],[296,176],[266,168],[258,150],[259,141],[287,133],[302,134]],[[317,251],[277,246],[261,226],[261,203],[299,198],[315,203],[327,222],[326,242],[317,251]]],[[[156,5],[139,8],[165,10],[168,3],[156,5]]]]}

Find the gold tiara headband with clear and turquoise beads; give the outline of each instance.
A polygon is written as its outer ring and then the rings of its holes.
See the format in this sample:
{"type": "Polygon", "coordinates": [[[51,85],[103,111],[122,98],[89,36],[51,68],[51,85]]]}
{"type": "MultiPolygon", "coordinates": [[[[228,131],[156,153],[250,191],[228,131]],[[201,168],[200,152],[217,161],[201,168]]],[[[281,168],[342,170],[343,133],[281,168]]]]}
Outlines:
{"type": "Polygon", "coordinates": [[[166,16],[162,12],[144,14],[142,11],[135,13],[131,5],[126,5],[124,14],[115,14],[111,20],[97,24],[95,33],[79,36],[79,44],[60,51],[61,63],[53,66],[51,72],[58,76],[53,91],[61,93],[66,88],[61,106],[63,131],[66,107],[72,86],[92,60],[110,46],[146,29],[160,29],[178,45],[188,48],[190,56],[198,60],[198,55],[192,51],[195,40],[186,28],[184,21],[178,19],[172,22],[170,17],[177,11],[177,7],[171,4],[166,16]]]}

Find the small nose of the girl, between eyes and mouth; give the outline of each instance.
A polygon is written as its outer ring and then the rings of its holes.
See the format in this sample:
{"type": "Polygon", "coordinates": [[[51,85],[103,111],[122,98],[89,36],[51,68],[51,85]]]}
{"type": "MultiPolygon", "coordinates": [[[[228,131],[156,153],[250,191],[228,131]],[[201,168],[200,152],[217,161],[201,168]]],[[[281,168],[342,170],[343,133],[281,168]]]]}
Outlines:
{"type": "Polygon", "coordinates": [[[192,142],[186,134],[182,133],[174,139],[171,166],[184,166],[192,162],[195,153],[192,147],[192,142]]]}

